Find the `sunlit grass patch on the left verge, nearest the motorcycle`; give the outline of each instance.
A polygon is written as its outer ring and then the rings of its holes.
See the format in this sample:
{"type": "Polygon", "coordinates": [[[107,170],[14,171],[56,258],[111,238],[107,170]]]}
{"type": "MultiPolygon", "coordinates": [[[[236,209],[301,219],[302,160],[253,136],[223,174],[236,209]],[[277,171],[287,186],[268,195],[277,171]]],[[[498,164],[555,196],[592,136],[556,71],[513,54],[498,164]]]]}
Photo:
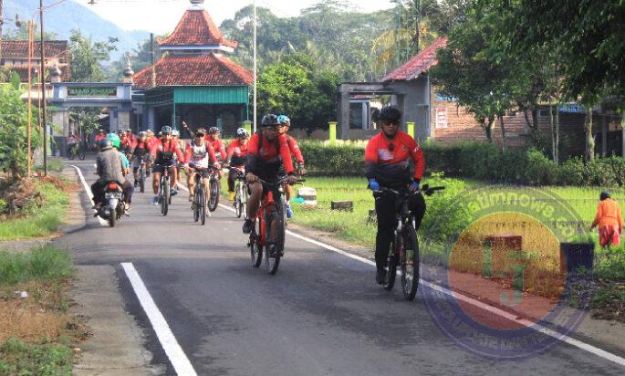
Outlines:
{"type": "Polygon", "coordinates": [[[27,205],[24,216],[0,222],[0,241],[50,235],[63,223],[69,194],[53,183],[36,182],[42,204],[27,205]]]}

